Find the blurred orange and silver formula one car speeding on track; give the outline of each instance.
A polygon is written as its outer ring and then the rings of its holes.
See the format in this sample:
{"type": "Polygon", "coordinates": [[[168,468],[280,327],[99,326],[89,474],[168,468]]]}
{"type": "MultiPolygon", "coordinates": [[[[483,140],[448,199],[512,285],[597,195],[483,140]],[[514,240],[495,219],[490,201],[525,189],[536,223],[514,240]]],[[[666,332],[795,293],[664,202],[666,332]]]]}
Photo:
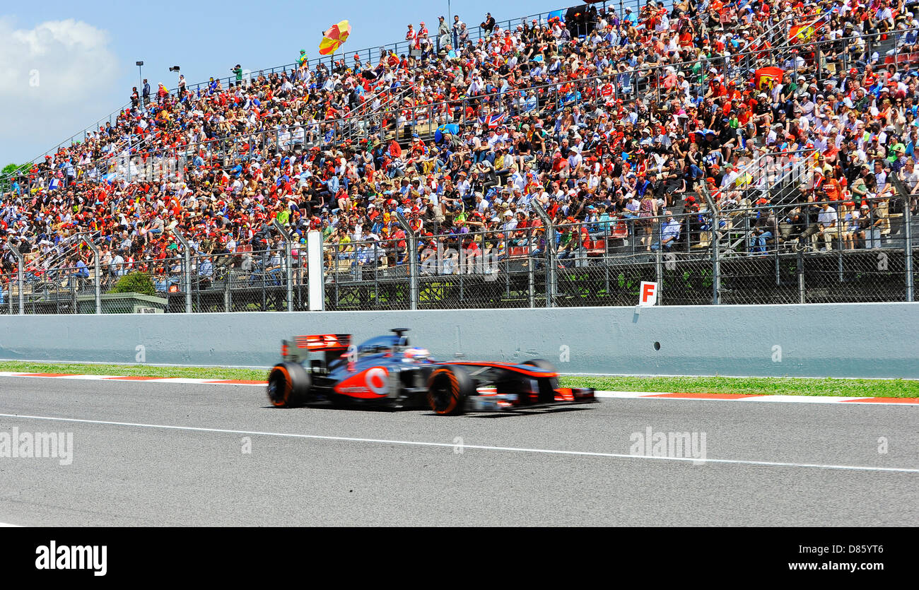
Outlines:
{"type": "Polygon", "coordinates": [[[558,372],[545,360],[437,362],[409,346],[407,331],[397,328],[359,346],[347,334],[284,340],[283,359],[268,375],[268,400],[280,408],[372,404],[429,407],[441,415],[596,402],[593,389],[559,387],[558,372]]]}

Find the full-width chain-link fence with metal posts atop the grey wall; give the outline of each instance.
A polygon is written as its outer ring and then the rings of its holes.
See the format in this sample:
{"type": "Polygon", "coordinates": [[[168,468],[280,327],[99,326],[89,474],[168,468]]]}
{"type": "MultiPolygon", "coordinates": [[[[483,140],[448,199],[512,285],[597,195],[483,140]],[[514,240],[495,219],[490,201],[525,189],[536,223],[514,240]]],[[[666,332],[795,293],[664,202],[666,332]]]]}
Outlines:
{"type": "MultiPolygon", "coordinates": [[[[322,305],[330,311],[634,305],[642,281],[658,283],[663,305],[913,301],[916,227],[898,197],[756,207],[704,200],[699,208],[609,208],[586,222],[559,224],[506,210],[489,231],[437,236],[409,226],[384,240],[353,240],[342,229],[323,244],[322,305]]],[[[103,254],[96,269],[91,255],[64,255],[51,266],[14,246],[8,254],[22,262],[14,267],[4,258],[0,313],[319,307],[309,301],[304,244],[277,236],[263,250],[190,250],[140,261],[103,254]],[[139,275],[152,285],[133,282],[139,275]]]]}

